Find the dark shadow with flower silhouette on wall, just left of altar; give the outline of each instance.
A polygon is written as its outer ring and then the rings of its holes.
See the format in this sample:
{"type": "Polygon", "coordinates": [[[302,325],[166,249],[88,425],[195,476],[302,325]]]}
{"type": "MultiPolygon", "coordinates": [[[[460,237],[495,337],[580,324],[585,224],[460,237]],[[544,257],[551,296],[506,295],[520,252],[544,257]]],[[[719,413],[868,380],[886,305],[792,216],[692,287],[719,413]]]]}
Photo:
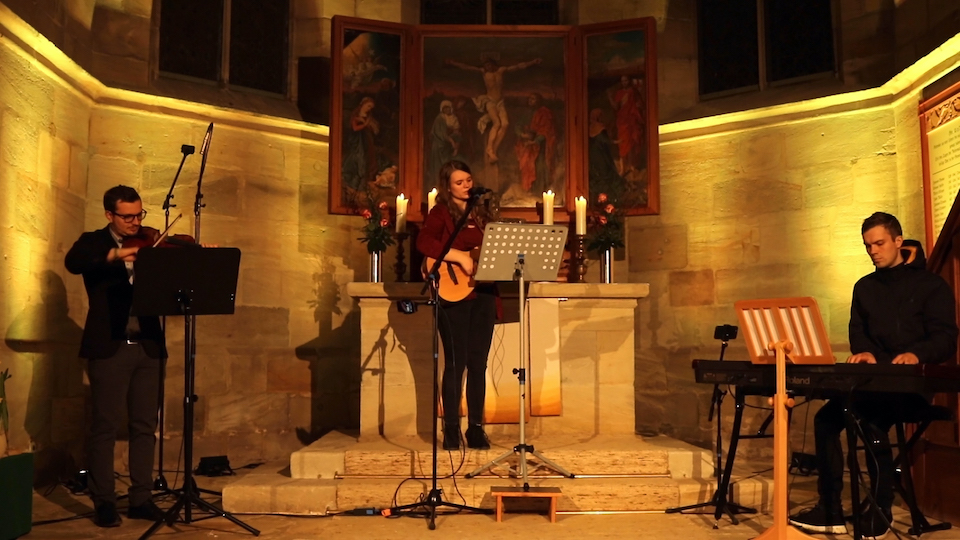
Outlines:
{"type": "Polygon", "coordinates": [[[353,436],[360,430],[360,371],[356,358],[360,336],[360,309],[355,306],[337,328],[334,316],[342,315],[340,286],[334,265],[324,258],[313,274],[314,299],[308,300],[317,323],[317,337],[298,345],[297,358],[310,363],[310,425],[297,427],[304,445],[337,430],[353,436]]]}

